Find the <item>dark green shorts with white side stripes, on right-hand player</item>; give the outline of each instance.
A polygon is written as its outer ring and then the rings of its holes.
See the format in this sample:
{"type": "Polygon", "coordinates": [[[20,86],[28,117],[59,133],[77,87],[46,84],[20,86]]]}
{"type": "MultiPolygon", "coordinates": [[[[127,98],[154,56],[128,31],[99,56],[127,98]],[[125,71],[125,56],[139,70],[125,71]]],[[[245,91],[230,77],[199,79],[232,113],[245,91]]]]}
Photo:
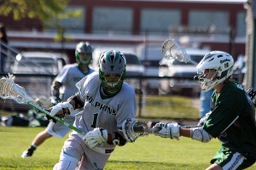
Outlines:
{"type": "Polygon", "coordinates": [[[220,167],[225,169],[245,169],[251,167],[255,160],[249,160],[240,153],[221,147],[216,155],[212,158],[211,163],[217,163],[220,167]]]}

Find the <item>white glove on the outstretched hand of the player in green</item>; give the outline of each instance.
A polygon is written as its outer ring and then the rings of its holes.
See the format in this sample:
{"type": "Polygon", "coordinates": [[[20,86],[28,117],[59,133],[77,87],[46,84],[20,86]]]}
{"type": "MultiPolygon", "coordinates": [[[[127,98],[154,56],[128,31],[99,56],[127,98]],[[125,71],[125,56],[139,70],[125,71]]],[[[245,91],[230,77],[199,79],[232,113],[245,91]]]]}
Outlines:
{"type": "Polygon", "coordinates": [[[154,133],[157,136],[160,136],[162,138],[171,138],[171,139],[179,139],[179,129],[180,126],[175,123],[156,123],[153,128],[160,128],[160,131],[157,133],[154,133]]]}

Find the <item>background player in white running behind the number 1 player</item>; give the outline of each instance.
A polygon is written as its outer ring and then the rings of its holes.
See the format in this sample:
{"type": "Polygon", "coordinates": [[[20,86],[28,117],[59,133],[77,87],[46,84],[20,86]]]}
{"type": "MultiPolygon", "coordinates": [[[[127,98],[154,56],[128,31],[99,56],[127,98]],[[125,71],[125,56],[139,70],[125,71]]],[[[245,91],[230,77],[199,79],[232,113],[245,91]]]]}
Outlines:
{"type": "MultiPolygon", "coordinates": [[[[53,99],[51,102],[55,105],[61,100],[66,101],[69,97],[78,92],[76,83],[94,71],[88,66],[92,59],[92,48],[89,42],[79,42],[75,49],[75,56],[77,63],[65,65],[53,81],[53,99]],[[60,94],[60,88],[62,88],[64,92],[62,95],[60,94]]],[[[78,112],[79,110],[73,111],[71,115],[65,117],[65,121],[73,124],[74,116],[78,112]]],[[[45,139],[49,139],[52,136],[63,138],[69,131],[70,128],[62,125],[60,122],[49,122],[48,127],[46,127],[43,132],[38,133],[35,139],[33,139],[31,147],[25,150],[21,157],[26,158],[32,156],[34,150],[36,150],[40,144],[43,144],[45,139]]]]}

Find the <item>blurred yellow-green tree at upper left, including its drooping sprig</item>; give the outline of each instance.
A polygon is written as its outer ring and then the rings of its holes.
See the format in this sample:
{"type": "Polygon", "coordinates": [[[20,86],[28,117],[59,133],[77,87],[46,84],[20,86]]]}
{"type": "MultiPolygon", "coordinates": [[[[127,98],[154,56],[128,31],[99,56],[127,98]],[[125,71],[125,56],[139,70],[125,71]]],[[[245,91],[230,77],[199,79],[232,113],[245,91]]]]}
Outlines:
{"type": "Polygon", "coordinates": [[[69,0],[0,0],[0,16],[12,15],[14,20],[41,20],[44,26],[56,28],[55,41],[63,43],[68,38],[64,37],[65,28],[60,20],[82,16],[79,10],[66,10],[68,3],[69,0]]]}

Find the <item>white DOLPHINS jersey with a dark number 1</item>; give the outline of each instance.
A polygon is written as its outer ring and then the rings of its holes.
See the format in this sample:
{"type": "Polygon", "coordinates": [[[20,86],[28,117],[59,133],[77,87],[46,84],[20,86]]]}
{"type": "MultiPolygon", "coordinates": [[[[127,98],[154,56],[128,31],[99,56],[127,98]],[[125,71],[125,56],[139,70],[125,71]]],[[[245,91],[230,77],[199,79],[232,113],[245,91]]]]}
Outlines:
{"type": "MultiPolygon", "coordinates": [[[[74,126],[79,127],[84,133],[92,131],[95,127],[102,127],[107,129],[114,138],[114,132],[120,132],[122,123],[127,118],[136,116],[136,94],[134,89],[125,82],[119,94],[108,98],[102,95],[101,81],[96,71],[78,82],[77,87],[79,99],[84,102],[84,111],[76,116],[74,126]]],[[[114,146],[102,144],[100,147],[114,146]]]]}

